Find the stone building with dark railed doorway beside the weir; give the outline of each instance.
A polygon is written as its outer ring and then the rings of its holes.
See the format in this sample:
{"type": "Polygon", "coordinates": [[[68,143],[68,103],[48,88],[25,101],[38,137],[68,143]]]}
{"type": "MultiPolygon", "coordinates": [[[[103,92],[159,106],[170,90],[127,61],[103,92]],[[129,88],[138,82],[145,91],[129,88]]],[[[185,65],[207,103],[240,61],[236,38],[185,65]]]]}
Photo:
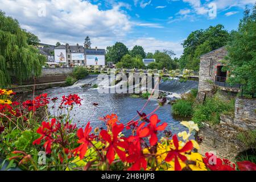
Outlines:
{"type": "Polygon", "coordinates": [[[218,48],[212,52],[200,56],[199,87],[197,101],[203,102],[205,96],[211,96],[215,89],[233,92],[240,91],[240,85],[229,85],[226,82],[228,72],[222,71],[228,52],[225,47],[218,48]]]}

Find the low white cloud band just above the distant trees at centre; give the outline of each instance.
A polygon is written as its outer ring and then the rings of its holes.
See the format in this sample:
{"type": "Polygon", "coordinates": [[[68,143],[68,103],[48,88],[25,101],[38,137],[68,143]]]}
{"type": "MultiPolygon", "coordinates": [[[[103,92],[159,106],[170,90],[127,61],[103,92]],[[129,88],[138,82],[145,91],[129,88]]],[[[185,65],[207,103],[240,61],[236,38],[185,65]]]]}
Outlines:
{"type": "Polygon", "coordinates": [[[145,52],[155,52],[156,50],[162,51],[163,49],[171,49],[176,53],[176,57],[180,57],[183,53],[183,47],[181,46],[182,40],[178,42],[157,40],[155,38],[138,38],[129,40],[126,45],[129,48],[138,45],[144,48],[145,52]]]}

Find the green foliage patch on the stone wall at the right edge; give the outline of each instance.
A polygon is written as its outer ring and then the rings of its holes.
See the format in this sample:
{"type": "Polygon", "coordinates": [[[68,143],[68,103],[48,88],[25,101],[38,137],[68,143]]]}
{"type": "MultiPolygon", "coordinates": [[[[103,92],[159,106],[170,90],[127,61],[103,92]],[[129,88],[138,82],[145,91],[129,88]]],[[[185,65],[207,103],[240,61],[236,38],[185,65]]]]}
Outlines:
{"type": "Polygon", "coordinates": [[[237,139],[245,143],[247,147],[256,149],[256,130],[244,131],[237,135],[237,139]]]}

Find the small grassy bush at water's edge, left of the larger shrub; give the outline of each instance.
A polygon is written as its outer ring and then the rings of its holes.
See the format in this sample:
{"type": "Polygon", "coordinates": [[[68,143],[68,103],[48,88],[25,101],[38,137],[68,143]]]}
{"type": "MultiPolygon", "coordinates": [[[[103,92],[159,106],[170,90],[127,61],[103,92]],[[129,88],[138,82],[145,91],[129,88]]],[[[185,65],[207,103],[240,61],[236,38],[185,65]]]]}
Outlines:
{"type": "Polygon", "coordinates": [[[187,100],[177,100],[176,104],[172,105],[172,110],[175,115],[179,115],[181,117],[192,116],[192,102],[187,100]]]}

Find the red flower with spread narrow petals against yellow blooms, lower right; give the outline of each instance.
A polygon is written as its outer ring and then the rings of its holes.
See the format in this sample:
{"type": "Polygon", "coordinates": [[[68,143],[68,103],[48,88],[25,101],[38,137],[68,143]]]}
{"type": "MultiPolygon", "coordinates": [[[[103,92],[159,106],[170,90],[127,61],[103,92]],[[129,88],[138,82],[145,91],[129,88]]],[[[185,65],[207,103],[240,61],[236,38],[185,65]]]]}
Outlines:
{"type": "Polygon", "coordinates": [[[174,137],[172,137],[172,140],[174,141],[175,149],[174,150],[172,149],[170,152],[168,152],[165,160],[166,162],[170,162],[172,159],[174,159],[174,165],[175,165],[174,169],[175,171],[180,171],[181,166],[178,158],[180,158],[180,160],[185,162],[185,160],[187,160],[187,157],[181,153],[191,151],[193,148],[193,144],[191,141],[189,141],[184,145],[184,147],[179,149],[179,141],[177,139],[177,135],[174,135],[174,137]]]}

